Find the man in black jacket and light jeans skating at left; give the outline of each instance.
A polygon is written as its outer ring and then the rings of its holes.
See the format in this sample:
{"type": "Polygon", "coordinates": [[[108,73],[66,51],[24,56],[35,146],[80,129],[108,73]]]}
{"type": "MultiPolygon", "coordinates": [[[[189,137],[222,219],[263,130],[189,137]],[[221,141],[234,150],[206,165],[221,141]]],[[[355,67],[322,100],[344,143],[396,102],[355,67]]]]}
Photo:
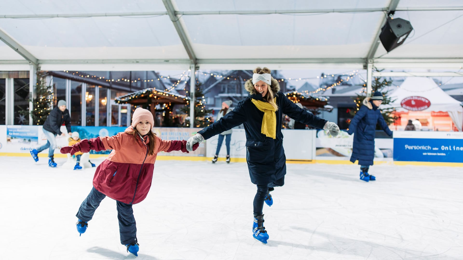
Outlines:
{"type": "Polygon", "coordinates": [[[48,166],[56,167],[56,162],[53,159],[53,155],[56,149],[56,139],[57,135],[65,136],[65,133],[62,133],[60,128],[63,123],[66,125],[66,129],[68,130],[69,136],[71,133],[71,118],[69,116],[69,110],[66,109],[66,101],[60,100],[58,101],[58,105],[50,111],[50,115],[48,115],[47,120],[45,120],[43,132],[44,135],[47,137],[47,143],[39,147],[38,149],[33,149],[31,151],[32,158],[35,161],[38,161],[38,153],[41,151],[48,149],[48,166]]]}

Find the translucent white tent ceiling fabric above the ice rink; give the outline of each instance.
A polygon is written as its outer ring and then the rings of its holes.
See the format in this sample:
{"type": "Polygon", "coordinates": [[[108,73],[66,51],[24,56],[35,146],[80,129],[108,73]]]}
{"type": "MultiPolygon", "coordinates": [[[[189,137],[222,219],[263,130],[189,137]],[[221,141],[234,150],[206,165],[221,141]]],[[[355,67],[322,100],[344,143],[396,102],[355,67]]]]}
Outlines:
{"type": "MultiPolygon", "coordinates": [[[[188,44],[192,46],[201,68],[243,68],[256,63],[266,65],[273,59],[279,59],[272,63],[282,64],[281,69],[307,68],[317,63],[325,66],[335,64],[334,67],[362,66],[377,30],[382,26],[385,13],[313,13],[313,10],[380,10],[387,9],[390,0],[268,0],[265,5],[248,0],[171,2],[177,13],[185,12],[176,17],[181,21],[188,44]],[[312,11],[292,14],[188,14],[250,10],[312,11]]],[[[396,64],[394,66],[400,68],[397,65],[400,62],[407,62],[403,63],[407,67],[419,63],[410,62],[413,59],[429,59],[429,64],[436,61],[441,65],[445,63],[442,59],[454,59],[450,63],[455,64],[451,66],[461,66],[461,0],[400,0],[397,9],[440,7],[458,10],[396,11],[394,17],[409,20],[414,31],[402,46],[390,53],[380,44],[373,56],[374,62],[387,65],[392,61],[396,64]]],[[[72,68],[90,66],[91,69],[100,70],[124,66],[126,70],[165,69],[166,66],[184,69],[188,68],[190,59],[162,0],[1,1],[0,30],[35,56],[41,68],[61,69],[63,65],[68,65],[72,68]],[[157,14],[141,15],[143,13],[157,14]],[[8,15],[64,14],[88,15],[72,18],[5,18],[8,15]]],[[[5,67],[2,64],[15,61],[24,63],[25,59],[0,42],[0,68],[5,67]]]]}

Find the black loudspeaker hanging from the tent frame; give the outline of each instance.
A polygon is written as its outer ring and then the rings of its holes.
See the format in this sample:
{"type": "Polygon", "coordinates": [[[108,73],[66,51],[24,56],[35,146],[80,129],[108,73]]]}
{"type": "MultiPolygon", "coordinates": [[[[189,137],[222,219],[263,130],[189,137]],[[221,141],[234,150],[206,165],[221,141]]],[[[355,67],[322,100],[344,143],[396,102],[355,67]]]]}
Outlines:
{"type": "Polygon", "coordinates": [[[384,49],[388,52],[394,50],[404,43],[412,30],[413,27],[407,20],[400,18],[388,19],[379,35],[382,46],[384,46],[384,49]]]}

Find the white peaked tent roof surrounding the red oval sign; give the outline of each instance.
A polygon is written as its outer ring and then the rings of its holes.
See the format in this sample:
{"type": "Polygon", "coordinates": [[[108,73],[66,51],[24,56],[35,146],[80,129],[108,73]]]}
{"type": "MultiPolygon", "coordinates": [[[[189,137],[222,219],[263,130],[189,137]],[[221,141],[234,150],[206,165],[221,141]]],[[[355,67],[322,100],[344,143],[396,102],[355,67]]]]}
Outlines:
{"type": "Polygon", "coordinates": [[[391,93],[391,98],[396,99],[390,106],[396,111],[409,111],[400,104],[408,97],[422,97],[428,99],[431,105],[421,111],[448,112],[458,131],[463,126],[463,107],[461,102],[445,93],[431,78],[408,77],[397,90],[391,93]]]}

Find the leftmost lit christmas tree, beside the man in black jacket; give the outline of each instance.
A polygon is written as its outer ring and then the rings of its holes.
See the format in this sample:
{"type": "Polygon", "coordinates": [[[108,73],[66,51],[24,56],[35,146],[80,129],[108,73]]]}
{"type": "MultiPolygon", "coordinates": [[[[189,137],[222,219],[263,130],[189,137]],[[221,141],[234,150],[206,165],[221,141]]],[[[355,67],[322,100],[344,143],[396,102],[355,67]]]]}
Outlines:
{"type": "Polygon", "coordinates": [[[29,102],[32,102],[33,105],[32,111],[29,112],[29,108],[26,108],[19,112],[25,117],[31,115],[32,124],[34,125],[43,125],[51,111],[53,92],[52,87],[47,86],[45,83],[45,75],[45,73],[37,72],[36,97],[29,99],[29,102]]]}

